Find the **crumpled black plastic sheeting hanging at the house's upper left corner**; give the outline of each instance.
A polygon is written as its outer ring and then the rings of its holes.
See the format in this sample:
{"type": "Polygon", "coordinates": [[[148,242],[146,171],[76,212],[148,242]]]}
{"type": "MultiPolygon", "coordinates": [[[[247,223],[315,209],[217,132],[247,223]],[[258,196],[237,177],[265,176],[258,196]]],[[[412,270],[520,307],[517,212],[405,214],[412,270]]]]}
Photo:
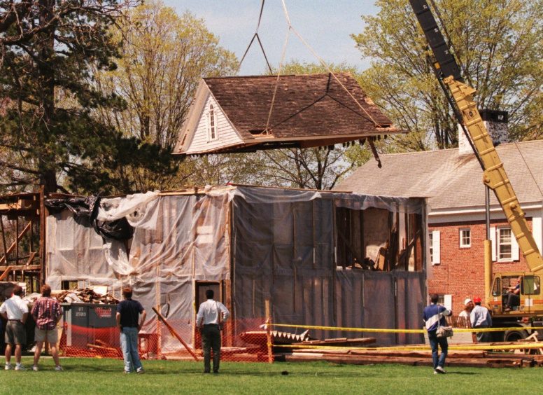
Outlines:
{"type": "Polygon", "coordinates": [[[92,228],[106,239],[128,240],[134,235],[134,228],[124,217],[115,221],[97,221],[99,205],[100,197],[96,195],[45,200],[45,207],[50,212],[57,213],[69,209],[78,223],[88,221],[92,224],[92,228]]]}

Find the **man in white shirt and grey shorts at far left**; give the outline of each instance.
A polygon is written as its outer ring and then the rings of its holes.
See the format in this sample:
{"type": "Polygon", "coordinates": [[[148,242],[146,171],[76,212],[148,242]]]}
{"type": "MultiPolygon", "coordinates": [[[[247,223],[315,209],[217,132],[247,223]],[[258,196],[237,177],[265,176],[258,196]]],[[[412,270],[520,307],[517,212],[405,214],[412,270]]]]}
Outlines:
{"type": "Polygon", "coordinates": [[[22,345],[27,344],[27,330],[24,323],[28,318],[28,306],[21,299],[22,288],[13,287],[13,295],[0,306],[0,315],[8,320],[6,324],[6,370],[11,366],[11,349],[15,345],[15,370],[26,370],[21,364],[22,345]]]}

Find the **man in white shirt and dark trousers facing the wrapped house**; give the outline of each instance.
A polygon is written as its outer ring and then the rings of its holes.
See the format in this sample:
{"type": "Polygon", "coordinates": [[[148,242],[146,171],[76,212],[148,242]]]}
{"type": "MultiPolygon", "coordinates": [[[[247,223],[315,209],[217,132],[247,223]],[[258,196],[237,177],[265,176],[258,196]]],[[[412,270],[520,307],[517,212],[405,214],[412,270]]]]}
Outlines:
{"type": "Polygon", "coordinates": [[[219,373],[220,329],[230,312],[223,303],[213,300],[213,289],[206,290],[207,300],[200,305],[196,316],[196,325],[202,333],[204,349],[204,373],[211,371],[211,349],[213,349],[213,373],[219,373]],[[220,317],[220,315],[223,317],[220,317]]]}

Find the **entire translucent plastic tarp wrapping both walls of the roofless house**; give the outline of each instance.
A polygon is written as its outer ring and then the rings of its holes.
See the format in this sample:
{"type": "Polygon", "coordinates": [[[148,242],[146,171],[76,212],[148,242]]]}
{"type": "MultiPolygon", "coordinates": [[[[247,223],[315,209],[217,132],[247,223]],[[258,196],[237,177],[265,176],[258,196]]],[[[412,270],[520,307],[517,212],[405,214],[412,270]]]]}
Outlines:
{"type": "MultiPolygon", "coordinates": [[[[255,329],[245,328],[245,319],[264,322],[267,299],[276,323],[419,328],[424,273],[338,270],[335,207],[423,212],[422,200],[416,199],[241,186],[206,188],[198,195],[154,192],[102,198],[97,219],[127,219],[134,227],[132,239],[106,239],[67,209],[48,216],[47,282],[53,289],[66,280],[80,287],[106,285],[118,298],[122,286],[131,284],[134,298],[148,311],[143,332],[157,333],[162,352],[182,346],[157,327],[151,307],[160,306],[178,334],[194,345],[198,281],[230,287],[223,295],[231,297],[233,318],[241,322],[237,333],[255,329]],[[416,314],[395,310],[397,278],[409,294],[409,305],[402,309],[416,314]]],[[[382,342],[394,341],[392,335],[382,342]]]]}

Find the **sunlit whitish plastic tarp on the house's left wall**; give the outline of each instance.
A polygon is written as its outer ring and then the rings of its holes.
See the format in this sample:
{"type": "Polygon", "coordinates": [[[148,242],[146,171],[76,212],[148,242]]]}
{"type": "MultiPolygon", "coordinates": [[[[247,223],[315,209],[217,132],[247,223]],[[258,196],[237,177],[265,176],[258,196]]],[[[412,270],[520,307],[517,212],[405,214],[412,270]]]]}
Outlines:
{"type": "MultiPolygon", "coordinates": [[[[194,280],[230,278],[229,199],[228,193],[101,199],[98,219],[124,216],[134,227],[129,243],[101,237],[68,210],[52,214],[47,219],[47,282],[53,289],[66,280],[80,287],[106,285],[118,298],[122,286],[131,284],[134,298],[148,312],[143,332],[157,331],[151,307],[159,305],[190,342],[194,280]]],[[[179,349],[168,331],[160,332],[162,352],[179,349]]]]}

